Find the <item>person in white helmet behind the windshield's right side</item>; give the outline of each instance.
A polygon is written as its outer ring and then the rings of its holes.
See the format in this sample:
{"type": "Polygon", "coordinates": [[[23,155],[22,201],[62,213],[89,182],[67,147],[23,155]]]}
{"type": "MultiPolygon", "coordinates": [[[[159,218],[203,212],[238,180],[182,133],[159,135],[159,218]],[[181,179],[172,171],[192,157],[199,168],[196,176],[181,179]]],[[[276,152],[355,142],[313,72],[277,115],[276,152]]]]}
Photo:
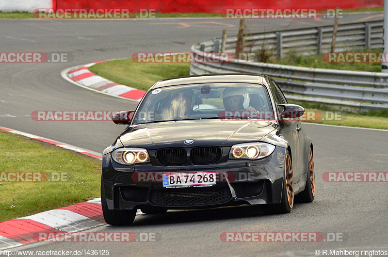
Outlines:
{"type": "Polygon", "coordinates": [[[256,111],[255,108],[249,106],[249,94],[244,88],[225,88],[223,100],[226,111],[256,111]]]}

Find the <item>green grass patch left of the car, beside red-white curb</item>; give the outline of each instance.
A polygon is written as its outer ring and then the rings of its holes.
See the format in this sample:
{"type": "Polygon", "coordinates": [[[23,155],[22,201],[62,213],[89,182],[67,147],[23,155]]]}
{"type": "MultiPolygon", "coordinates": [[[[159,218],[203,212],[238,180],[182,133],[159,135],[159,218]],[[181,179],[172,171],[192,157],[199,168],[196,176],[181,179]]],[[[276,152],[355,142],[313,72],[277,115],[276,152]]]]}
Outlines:
{"type": "Polygon", "coordinates": [[[97,159],[0,130],[0,160],[0,222],[100,196],[97,159]],[[61,174],[63,182],[5,182],[7,172],[61,174]]]}

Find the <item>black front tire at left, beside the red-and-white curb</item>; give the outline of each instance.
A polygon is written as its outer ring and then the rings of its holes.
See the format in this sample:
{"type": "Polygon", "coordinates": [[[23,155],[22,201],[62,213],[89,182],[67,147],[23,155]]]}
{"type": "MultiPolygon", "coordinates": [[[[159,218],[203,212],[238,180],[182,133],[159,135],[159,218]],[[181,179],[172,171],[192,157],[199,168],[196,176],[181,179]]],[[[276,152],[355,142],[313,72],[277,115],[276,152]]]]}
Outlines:
{"type": "Polygon", "coordinates": [[[105,222],[109,225],[130,225],[135,220],[136,209],[133,210],[116,210],[108,209],[106,203],[105,190],[102,186],[101,177],[101,205],[102,213],[104,214],[105,222]]]}

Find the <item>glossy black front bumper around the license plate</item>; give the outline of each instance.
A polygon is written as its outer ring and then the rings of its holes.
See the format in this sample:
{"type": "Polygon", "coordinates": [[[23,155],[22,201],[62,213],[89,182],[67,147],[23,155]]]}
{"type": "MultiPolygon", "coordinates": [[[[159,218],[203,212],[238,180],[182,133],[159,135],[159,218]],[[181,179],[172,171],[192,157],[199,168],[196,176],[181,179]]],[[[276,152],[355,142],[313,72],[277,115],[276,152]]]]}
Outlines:
{"type": "Polygon", "coordinates": [[[103,156],[102,186],[109,209],[202,209],[233,205],[280,203],[286,149],[276,146],[270,156],[257,160],[227,160],[211,165],[125,166],[103,156]],[[216,172],[211,187],[164,188],[161,174],[216,172]]]}

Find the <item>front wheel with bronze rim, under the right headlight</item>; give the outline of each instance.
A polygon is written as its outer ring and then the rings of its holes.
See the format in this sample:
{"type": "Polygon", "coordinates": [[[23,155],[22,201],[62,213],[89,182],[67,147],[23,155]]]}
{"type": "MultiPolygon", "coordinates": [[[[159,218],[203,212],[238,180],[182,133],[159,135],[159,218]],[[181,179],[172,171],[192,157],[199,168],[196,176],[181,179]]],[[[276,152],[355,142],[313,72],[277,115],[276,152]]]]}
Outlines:
{"type": "Polygon", "coordinates": [[[291,155],[287,152],[286,159],[284,162],[284,177],[283,177],[283,189],[282,189],[282,198],[280,204],[271,204],[268,206],[263,206],[263,211],[266,214],[282,214],[282,213],[289,213],[293,207],[293,170],[292,170],[292,161],[291,161],[291,155]],[[287,159],[289,159],[291,164],[291,174],[289,170],[289,178],[287,179],[287,169],[290,168],[287,167],[287,159]],[[291,177],[290,177],[291,176],[291,177]],[[292,186],[291,191],[291,200],[289,201],[288,198],[288,189],[287,189],[287,181],[288,184],[292,186]],[[291,202],[291,204],[290,204],[291,202]]]}

